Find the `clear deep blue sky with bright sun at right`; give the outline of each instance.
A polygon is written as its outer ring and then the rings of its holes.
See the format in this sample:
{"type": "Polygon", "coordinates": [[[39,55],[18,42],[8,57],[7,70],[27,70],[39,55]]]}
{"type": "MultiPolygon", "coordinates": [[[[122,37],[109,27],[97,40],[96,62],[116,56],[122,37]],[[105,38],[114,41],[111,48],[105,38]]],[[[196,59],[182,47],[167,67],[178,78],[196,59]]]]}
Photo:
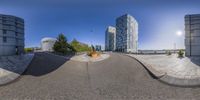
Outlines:
{"type": "Polygon", "coordinates": [[[199,14],[198,0],[0,0],[0,13],[25,20],[25,47],[44,37],[66,35],[70,42],[105,45],[105,30],[117,17],[132,15],[139,24],[139,49],[184,46],[184,16],[199,14]]]}

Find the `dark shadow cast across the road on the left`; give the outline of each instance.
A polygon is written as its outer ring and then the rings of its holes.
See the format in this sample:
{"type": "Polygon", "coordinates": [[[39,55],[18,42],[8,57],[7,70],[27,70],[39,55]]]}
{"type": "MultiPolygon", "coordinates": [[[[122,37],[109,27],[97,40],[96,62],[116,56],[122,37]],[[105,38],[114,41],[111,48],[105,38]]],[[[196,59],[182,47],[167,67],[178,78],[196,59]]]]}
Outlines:
{"type": "Polygon", "coordinates": [[[72,56],[74,54],[65,58],[49,53],[35,53],[35,57],[22,75],[42,76],[48,74],[69,61],[69,58],[72,56]]]}

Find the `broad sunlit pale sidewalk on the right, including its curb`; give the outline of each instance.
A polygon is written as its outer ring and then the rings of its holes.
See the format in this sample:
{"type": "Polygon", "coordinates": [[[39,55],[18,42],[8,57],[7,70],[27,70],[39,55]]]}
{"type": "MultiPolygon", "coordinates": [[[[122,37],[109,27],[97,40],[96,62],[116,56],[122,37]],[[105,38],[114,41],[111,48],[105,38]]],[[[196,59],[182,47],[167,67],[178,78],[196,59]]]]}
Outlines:
{"type": "Polygon", "coordinates": [[[200,58],[178,58],[174,55],[134,55],[159,80],[178,86],[200,85],[200,58]]]}

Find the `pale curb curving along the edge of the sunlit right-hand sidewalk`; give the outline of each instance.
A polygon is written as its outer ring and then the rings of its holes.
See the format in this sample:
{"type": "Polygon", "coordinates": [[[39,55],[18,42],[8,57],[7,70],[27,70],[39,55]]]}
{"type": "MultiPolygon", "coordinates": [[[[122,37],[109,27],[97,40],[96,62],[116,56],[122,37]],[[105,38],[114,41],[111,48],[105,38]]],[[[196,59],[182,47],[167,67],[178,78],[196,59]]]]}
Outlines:
{"type": "Polygon", "coordinates": [[[148,72],[153,74],[153,76],[155,76],[156,79],[158,79],[162,83],[172,85],[172,86],[178,86],[178,87],[199,87],[200,86],[200,77],[193,78],[193,79],[185,79],[185,78],[183,79],[183,78],[173,77],[173,76],[168,75],[167,73],[155,70],[153,67],[151,67],[151,65],[137,59],[136,57],[133,57],[127,54],[126,56],[137,60],[140,64],[144,66],[144,68],[148,72]]]}

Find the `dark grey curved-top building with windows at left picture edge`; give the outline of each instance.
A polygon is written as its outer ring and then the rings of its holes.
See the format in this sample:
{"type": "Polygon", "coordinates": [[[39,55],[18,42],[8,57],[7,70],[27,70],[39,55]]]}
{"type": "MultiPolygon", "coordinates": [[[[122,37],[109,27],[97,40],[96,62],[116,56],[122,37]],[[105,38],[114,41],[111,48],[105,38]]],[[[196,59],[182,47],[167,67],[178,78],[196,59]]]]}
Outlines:
{"type": "Polygon", "coordinates": [[[24,20],[0,14],[0,56],[24,53],[24,20]]]}

